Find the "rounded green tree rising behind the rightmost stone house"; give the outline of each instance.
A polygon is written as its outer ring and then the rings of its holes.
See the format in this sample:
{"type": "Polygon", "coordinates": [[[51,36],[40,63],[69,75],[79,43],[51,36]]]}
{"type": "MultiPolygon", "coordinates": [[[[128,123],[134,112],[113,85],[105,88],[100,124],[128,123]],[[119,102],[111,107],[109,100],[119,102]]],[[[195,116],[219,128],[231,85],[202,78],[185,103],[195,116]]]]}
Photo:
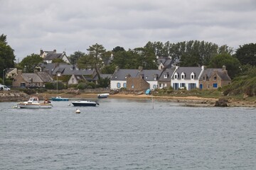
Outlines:
{"type": "Polygon", "coordinates": [[[228,70],[228,75],[231,79],[240,73],[240,62],[237,58],[231,56],[230,54],[220,54],[216,55],[210,60],[208,67],[210,68],[222,68],[225,65],[228,70]]]}

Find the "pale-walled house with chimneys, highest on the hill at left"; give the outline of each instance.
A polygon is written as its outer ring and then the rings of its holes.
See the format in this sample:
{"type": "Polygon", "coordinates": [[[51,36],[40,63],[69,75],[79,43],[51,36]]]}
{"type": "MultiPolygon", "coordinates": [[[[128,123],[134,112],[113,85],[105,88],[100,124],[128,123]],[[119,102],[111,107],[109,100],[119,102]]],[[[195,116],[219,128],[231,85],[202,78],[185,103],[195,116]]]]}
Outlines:
{"type": "Polygon", "coordinates": [[[55,59],[63,60],[64,62],[70,64],[70,60],[65,52],[57,53],[56,50],[53,51],[43,51],[40,50],[40,56],[43,57],[43,62],[52,63],[55,59]]]}

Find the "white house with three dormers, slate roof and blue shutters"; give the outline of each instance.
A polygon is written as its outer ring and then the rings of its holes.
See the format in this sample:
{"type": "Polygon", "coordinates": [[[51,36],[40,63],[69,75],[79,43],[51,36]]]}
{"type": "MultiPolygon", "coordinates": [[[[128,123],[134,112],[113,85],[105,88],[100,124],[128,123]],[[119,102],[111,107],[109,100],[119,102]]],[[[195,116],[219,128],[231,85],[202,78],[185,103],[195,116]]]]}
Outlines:
{"type": "Polygon", "coordinates": [[[175,89],[196,89],[199,88],[199,78],[204,70],[202,67],[178,67],[171,77],[171,86],[175,89]]]}

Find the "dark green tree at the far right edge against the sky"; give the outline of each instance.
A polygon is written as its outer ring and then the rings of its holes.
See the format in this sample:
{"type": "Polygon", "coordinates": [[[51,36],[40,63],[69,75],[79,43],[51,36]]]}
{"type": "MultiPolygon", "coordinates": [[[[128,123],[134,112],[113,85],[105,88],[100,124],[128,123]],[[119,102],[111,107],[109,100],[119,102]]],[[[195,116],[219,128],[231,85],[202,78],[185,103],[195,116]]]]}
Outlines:
{"type": "Polygon", "coordinates": [[[256,43],[240,45],[235,52],[235,57],[238,58],[242,65],[250,64],[256,66],[256,43]]]}

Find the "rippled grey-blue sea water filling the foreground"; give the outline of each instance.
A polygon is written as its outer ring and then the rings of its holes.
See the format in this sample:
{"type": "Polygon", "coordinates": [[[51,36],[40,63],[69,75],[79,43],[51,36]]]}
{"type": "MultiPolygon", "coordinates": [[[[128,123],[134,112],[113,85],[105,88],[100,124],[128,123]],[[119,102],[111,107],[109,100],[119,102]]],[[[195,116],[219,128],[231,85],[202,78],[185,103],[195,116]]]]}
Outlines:
{"type": "Polygon", "coordinates": [[[0,103],[0,169],[256,169],[255,108],[0,103]]]}

